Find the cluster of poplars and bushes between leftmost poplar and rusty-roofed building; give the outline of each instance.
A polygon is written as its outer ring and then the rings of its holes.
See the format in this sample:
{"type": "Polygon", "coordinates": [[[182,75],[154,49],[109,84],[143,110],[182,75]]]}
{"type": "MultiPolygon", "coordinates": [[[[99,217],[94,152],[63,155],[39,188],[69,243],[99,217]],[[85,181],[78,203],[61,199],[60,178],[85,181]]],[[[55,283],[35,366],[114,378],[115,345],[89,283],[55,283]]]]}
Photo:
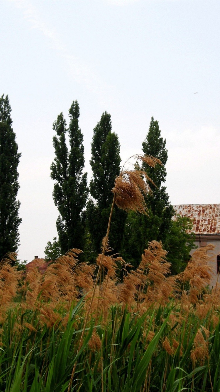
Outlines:
{"type": "MultiPolygon", "coordinates": [[[[100,252],[106,234],[112,204],[112,188],[121,170],[120,144],[112,132],[111,115],[103,113],[93,130],[91,143],[92,180],[87,184],[84,172],[83,134],[79,128],[79,105],[73,101],[69,109],[69,127],[60,113],[53,124],[55,158],[50,166],[55,181],[53,198],[60,215],[56,221],[58,239],[48,242],[45,254],[54,260],[71,248],[84,250],[84,258],[94,261],[100,252]],[[66,135],[68,134],[68,138],[66,135]],[[67,145],[69,140],[69,146],[67,145]]],[[[179,272],[193,248],[193,238],[186,230],[191,228],[188,218],[173,221],[173,207],[166,187],[166,140],[160,134],[159,123],[151,118],[150,128],[142,142],[142,152],[161,160],[163,166],[144,169],[155,183],[150,184],[153,194],[146,198],[148,215],[125,212],[114,208],[110,229],[110,247],[136,267],[148,242],[161,240],[168,250],[172,272],[179,272]]]]}

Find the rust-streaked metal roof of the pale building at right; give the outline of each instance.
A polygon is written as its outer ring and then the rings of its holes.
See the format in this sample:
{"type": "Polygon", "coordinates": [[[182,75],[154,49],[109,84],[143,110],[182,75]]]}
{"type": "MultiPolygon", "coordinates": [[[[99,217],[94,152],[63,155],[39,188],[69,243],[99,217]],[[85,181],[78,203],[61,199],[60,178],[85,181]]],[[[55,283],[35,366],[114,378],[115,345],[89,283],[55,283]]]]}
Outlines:
{"type": "Polygon", "coordinates": [[[179,204],[173,208],[193,220],[195,234],[220,234],[220,204],[179,204]]]}

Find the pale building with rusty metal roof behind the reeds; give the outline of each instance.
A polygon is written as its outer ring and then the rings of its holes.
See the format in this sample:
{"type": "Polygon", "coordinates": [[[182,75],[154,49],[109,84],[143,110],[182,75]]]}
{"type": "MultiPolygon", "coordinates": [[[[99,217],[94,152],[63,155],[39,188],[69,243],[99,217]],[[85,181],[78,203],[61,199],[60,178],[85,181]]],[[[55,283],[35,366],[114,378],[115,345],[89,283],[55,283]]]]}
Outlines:
{"type": "MultiPolygon", "coordinates": [[[[220,269],[220,204],[179,204],[173,205],[173,208],[180,216],[188,216],[193,221],[192,231],[199,248],[211,243],[215,245],[215,263],[210,264],[213,268],[211,286],[215,286],[220,269]]],[[[191,254],[193,252],[195,249],[191,254]]]]}

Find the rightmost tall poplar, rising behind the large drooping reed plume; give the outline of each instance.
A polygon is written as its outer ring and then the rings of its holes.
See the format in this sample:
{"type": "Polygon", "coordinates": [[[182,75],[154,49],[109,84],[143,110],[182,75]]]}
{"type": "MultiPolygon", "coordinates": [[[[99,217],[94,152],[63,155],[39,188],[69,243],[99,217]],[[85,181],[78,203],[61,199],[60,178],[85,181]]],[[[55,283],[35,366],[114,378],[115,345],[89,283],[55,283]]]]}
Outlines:
{"type": "Polygon", "coordinates": [[[153,168],[145,163],[142,164],[142,169],[156,185],[149,183],[152,194],[148,194],[145,198],[148,215],[130,212],[126,220],[123,256],[137,264],[143,250],[148,247],[148,241],[162,240],[163,244],[166,243],[172,224],[171,218],[174,215],[166,187],[162,185],[166,181],[165,165],[168,159],[166,140],[163,140],[159,123],[153,117],[151,117],[148,134],[142,142],[142,151],[146,155],[159,158],[163,166],[157,164],[153,168]]]}

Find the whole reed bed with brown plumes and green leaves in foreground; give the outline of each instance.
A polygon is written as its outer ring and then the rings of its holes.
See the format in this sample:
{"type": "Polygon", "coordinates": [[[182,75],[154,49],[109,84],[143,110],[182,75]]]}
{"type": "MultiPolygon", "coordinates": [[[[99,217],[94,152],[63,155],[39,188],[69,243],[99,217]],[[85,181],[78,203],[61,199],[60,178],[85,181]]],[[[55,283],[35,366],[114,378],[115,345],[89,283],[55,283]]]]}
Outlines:
{"type": "Polygon", "coordinates": [[[107,246],[89,314],[101,254],[88,265],[73,249],[44,275],[3,260],[0,390],[219,391],[220,287],[207,287],[212,251],[197,249],[184,272],[170,276],[161,243],[152,241],[130,272],[107,246]]]}

